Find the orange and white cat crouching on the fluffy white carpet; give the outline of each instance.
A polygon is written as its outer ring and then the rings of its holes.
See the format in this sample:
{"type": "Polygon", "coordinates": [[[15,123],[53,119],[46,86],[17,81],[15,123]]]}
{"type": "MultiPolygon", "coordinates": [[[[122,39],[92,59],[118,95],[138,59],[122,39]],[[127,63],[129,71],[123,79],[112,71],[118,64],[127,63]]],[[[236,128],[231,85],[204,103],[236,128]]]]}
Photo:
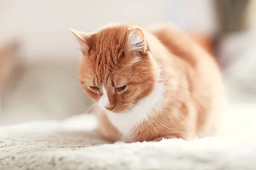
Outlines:
{"type": "Polygon", "coordinates": [[[103,139],[184,140],[218,134],[225,91],[215,59],[172,24],[70,29],[79,42],[80,81],[103,139]]]}

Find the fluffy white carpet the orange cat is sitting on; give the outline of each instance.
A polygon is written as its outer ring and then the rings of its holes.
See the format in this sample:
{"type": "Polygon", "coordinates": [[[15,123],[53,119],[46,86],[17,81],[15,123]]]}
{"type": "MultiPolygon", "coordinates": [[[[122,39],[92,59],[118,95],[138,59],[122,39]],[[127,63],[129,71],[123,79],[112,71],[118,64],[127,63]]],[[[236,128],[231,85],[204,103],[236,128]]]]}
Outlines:
{"type": "Polygon", "coordinates": [[[0,170],[255,170],[256,136],[105,144],[92,115],[0,127],[0,170]]]}

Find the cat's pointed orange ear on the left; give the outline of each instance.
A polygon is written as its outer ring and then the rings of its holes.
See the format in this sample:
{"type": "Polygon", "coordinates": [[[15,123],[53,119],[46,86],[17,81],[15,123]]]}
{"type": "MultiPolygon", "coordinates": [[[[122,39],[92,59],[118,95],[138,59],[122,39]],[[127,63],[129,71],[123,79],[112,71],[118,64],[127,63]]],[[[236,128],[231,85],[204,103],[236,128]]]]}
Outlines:
{"type": "Polygon", "coordinates": [[[84,55],[88,54],[88,51],[90,50],[90,34],[87,34],[82,31],[78,31],[76,29],[71,29],[70,31],[75,35],[76,40],[79,42],[80,49],[84,55]]]}

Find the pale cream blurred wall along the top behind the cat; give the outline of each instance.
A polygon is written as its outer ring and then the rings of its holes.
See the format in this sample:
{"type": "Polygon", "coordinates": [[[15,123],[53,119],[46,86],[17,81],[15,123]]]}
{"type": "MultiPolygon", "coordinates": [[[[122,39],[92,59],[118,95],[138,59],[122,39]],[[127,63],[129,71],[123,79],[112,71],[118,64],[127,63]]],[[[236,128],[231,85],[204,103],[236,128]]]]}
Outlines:
{"type": "Polygon", "coordinates": [[[212,33],[216,24],[212,0],[1,0],[0,40],[17,36],[26,57],[78,57],[68,28],[95,31],[113,22],[143,26],[174,22],[212,33]]]}

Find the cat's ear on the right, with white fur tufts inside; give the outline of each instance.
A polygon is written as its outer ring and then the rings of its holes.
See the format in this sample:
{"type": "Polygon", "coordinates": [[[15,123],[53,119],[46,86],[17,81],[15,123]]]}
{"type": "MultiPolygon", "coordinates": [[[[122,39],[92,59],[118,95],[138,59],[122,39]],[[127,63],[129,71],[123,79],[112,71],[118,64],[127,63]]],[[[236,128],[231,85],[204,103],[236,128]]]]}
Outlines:
{"type": "Polygon", "coordinates": [[[147,52],[147,43],[143,34],[143,31],[140,28],[134,28],[128,32],[128,44],[129,48],[132,51],[147,52]]]}

